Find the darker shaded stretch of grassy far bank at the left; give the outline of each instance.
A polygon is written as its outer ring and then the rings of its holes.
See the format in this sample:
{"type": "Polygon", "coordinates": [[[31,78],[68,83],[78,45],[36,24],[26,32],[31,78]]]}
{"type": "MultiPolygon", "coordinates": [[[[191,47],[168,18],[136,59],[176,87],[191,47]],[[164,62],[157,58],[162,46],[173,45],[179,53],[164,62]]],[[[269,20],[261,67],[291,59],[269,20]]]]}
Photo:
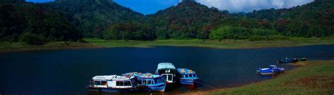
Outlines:
{"type": "Polygon", "coordinates": [[[97,48],[92,44],[82,44],[78,42],[50,42],[42,46],[28,45],[23,42],[0,42],[0,53],[13,51],[34,51],[34,50],[51,50],[51,49],[82,49],[97,48]]]}

